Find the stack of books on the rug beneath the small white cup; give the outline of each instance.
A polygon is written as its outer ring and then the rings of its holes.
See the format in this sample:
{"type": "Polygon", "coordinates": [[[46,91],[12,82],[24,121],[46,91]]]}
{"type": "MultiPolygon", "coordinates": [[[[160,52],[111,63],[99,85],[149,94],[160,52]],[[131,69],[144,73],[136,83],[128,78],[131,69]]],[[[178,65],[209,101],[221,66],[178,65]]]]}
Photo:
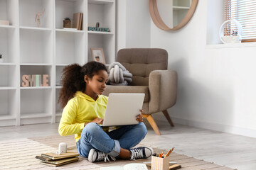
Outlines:
{"type": "Polygon", "coordinates": [[[78,152],[67,152],[61,154],[46,153],[37,155],[36,159],[40,159],[41,164],[46,164],[49,166],[60,166],[63,164],[69,164],[78,161],[78,152]]]}

